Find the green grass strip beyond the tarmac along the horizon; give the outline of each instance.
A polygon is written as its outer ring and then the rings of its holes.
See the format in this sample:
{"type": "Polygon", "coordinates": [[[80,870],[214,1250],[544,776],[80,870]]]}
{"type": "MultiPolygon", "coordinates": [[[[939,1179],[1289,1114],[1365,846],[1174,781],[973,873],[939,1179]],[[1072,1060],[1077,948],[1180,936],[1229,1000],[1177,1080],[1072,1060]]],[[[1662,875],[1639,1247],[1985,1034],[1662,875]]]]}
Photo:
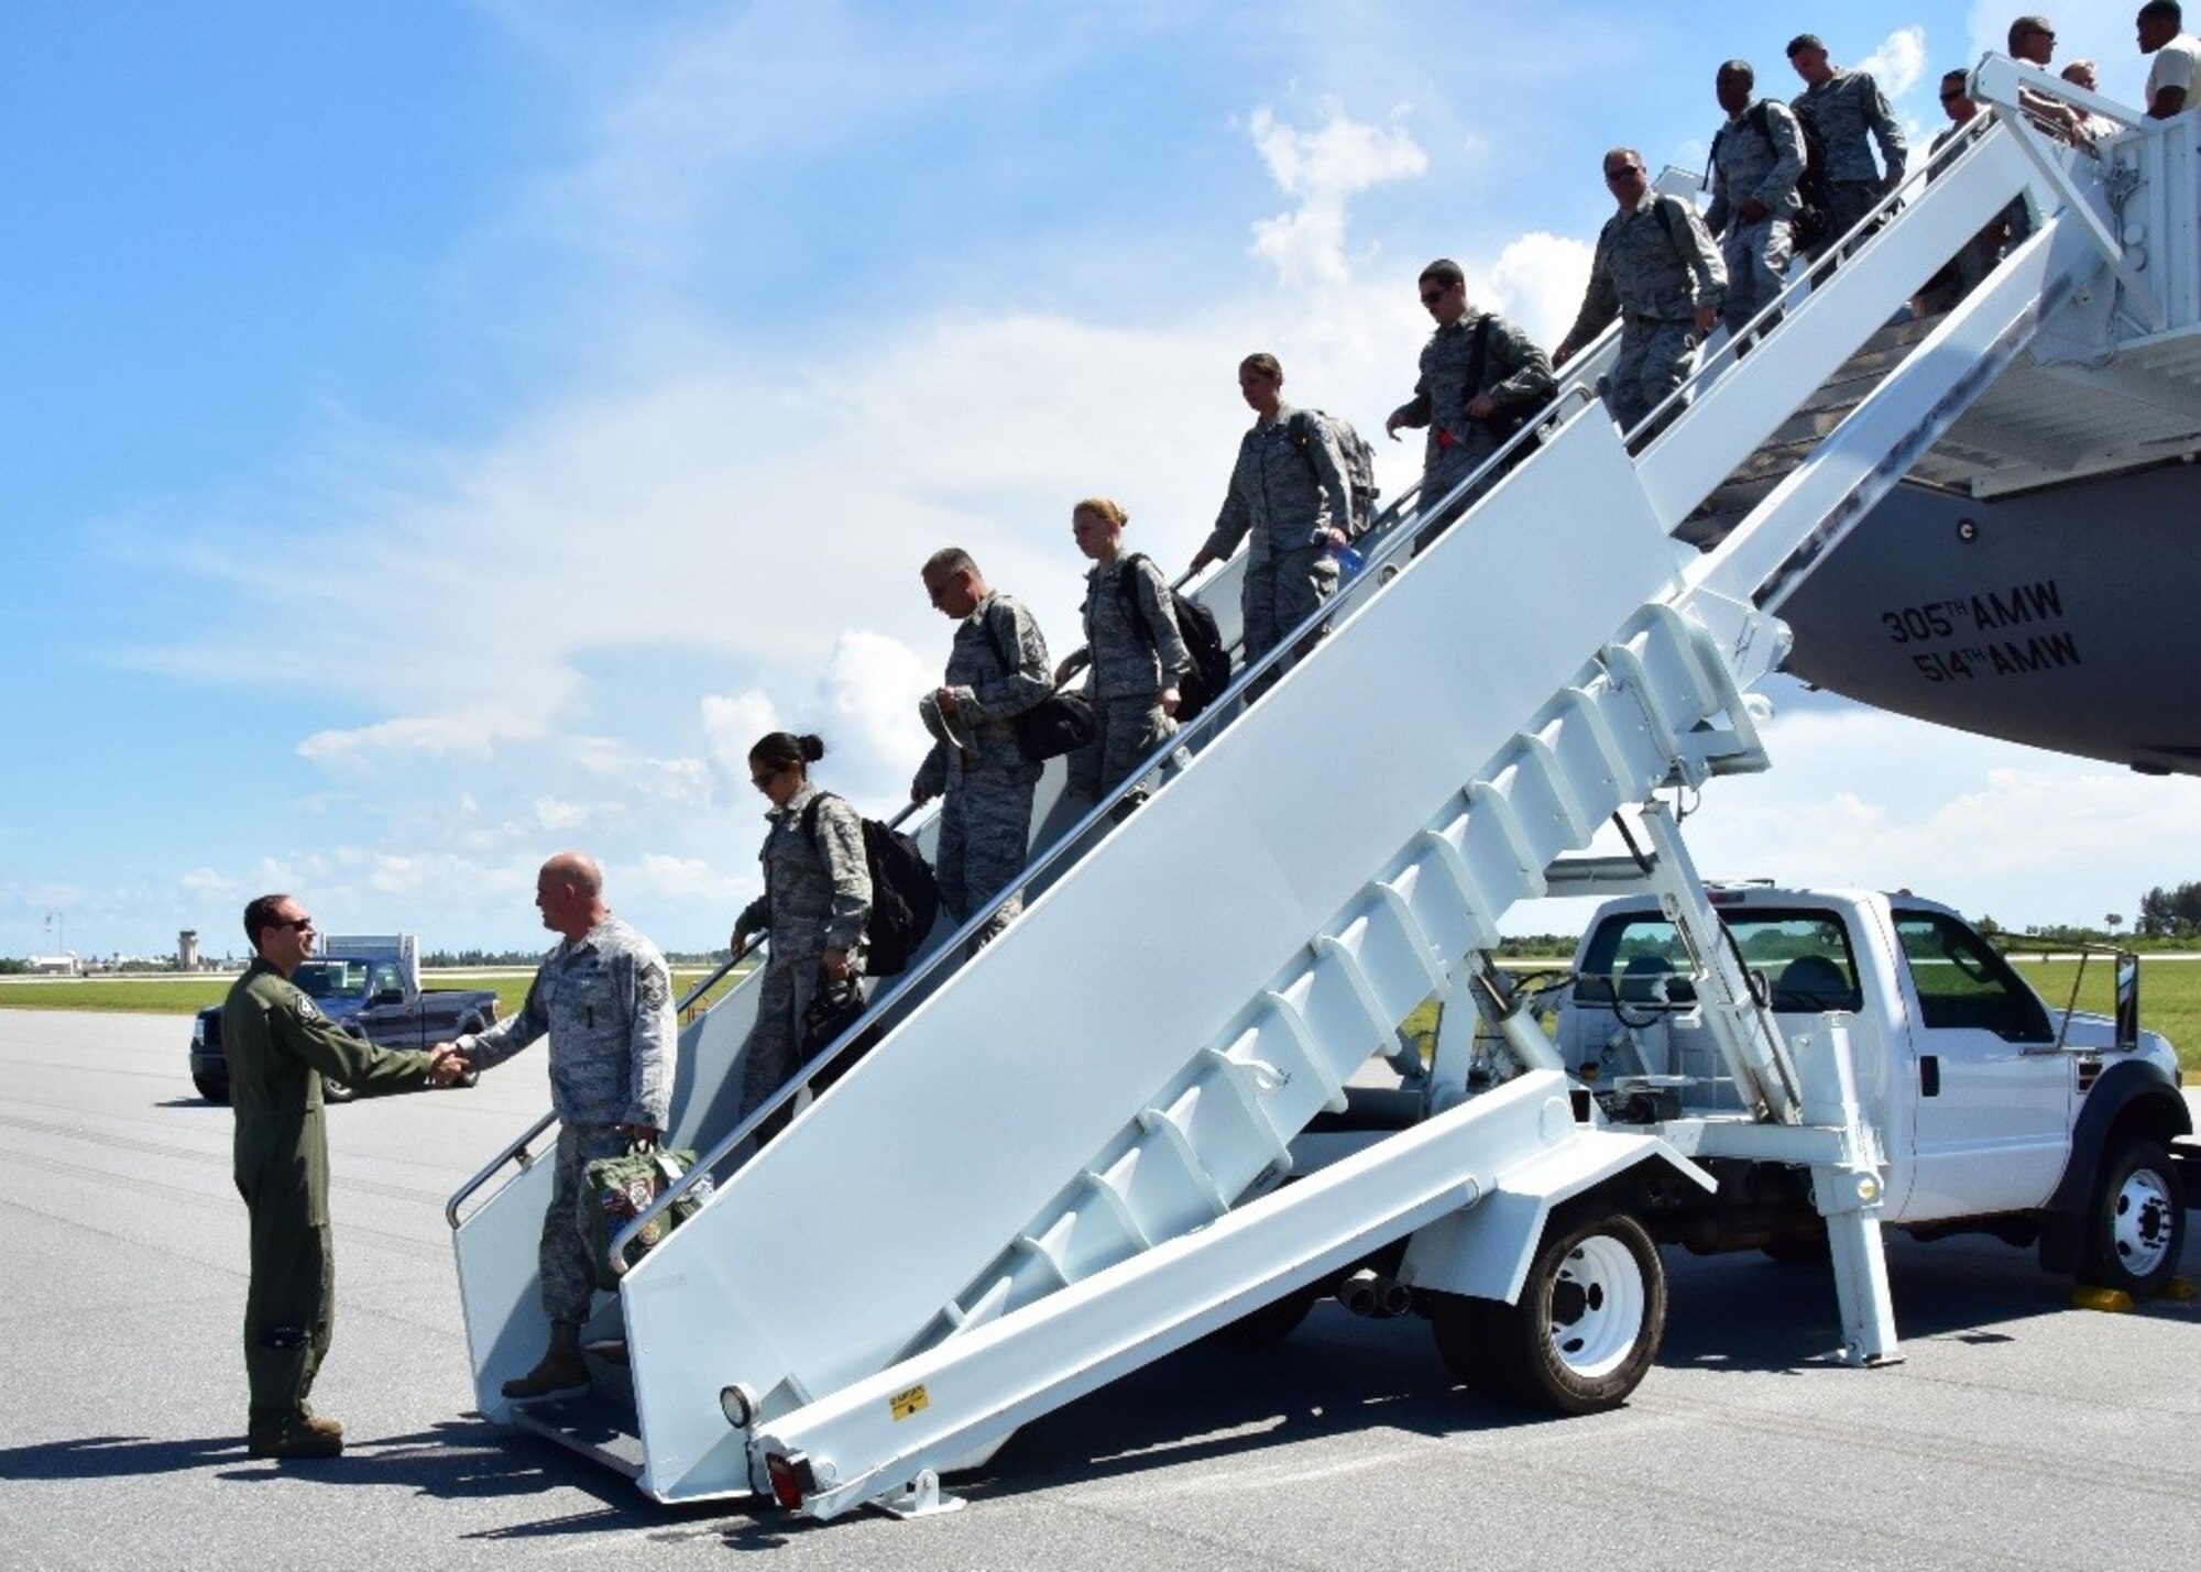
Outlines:
{"type": "MultiPolygon", "coordinates": [[[[2054,1013],[2071,1000],[2078,962],[2016,960],[2018,973],[2040,991],[2054,1013]]],[[[674,971],[674,993],[687,995],[707,971],[674,971]]],[[[434,973],[431,989],[495,989],[500,1015],[511,1015],[528,993],[524,973],[489,975],[434,973]]],[[[726,984],[713,989],[713,997],[726,984]]],[[[0,978],[0,1008],[13,1011],[132,1011],[145,1015],[194,1015],[220,1004],[229,978],[0,978]]],[[[707,1000],[709,1002],[709,1000],[707,1000]]],[[[2111,1013],[2109,967],[2087,967],[2078,995],[2080,1011],[2111,1013]]],[[[1406,1030],[1433,1037],[1435,1004],[1424,1004],[1406,1019],[1406,1030]]],[[[2139,1024],[2177,1044],[2179,1061],[2201,1074],[2201,960],[2144,956],[2139,962],[2139,1024]]]]}

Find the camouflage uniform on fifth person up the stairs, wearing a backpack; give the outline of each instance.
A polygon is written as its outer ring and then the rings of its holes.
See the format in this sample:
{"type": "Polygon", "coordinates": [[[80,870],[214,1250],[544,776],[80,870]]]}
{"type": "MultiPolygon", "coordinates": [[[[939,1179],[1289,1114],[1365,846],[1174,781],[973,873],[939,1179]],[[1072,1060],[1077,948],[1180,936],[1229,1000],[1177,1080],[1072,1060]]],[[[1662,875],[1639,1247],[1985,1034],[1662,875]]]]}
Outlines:
{"type": "Polygon", "coordinates": [[[1299,623],[1314,616],[1338,590],[1338,559],[1325,553],[1332,526],[1349,531],[1351,502],[1345,491],[1345,456],[1307,418],[1307,447],[1292,432],[1301,412],[1279,405],[1277,418],[1261,416],[1239,440],[1230,491],[1204,550],[1228,557],[1246,548],[1246,665],[1252,665],[1299,623]]]}

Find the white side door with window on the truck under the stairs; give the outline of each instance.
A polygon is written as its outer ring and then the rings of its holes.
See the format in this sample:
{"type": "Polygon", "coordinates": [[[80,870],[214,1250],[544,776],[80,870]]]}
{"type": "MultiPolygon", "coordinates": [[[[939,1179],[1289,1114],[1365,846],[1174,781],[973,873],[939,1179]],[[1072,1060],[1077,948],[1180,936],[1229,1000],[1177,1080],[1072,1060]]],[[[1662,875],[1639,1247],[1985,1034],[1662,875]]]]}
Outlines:
{"type": "Polygon", "coordinates": [[[1917,1099],[1906,1220],[2027,1211],[2065,1167],[2076,1068],[2047,1006],[1965,923],[1895,911],[1917,1099]]]}

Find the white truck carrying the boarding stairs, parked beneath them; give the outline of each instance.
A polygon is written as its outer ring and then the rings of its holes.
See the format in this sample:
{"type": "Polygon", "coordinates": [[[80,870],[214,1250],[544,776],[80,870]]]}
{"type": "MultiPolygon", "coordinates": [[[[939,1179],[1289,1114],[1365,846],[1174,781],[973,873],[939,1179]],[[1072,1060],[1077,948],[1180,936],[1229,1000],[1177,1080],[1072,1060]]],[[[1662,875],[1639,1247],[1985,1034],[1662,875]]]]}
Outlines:
{"type": "MultiPolygon", "coordinates": [[[[1585,863],[1580,878],[1649,883],[1624,859],[1585,863]]],[[[1624,1400],[1657,1354],[1657,1246],[1831,1257],[1847,1279],[1855,1363],[1893,1356],[1893,1321],[1877,1246],[1840,1255],[1844,1231],[1836,1222],[1829,1233],[1829,1220],[1851,1220],[1860,1246],[1860,1224],[1921,1240],[1988,1233],[2038,1246],[2047,1270],[2087,1286],[2133,1297],[2164,1288],[2186,1240],[2181,1169],[2192,1160],[2172,1143],[2192,1134],[2192,1118],[2175,1050],[2137,1030],[2131,956],[2102,960],[2115,971],[2117,1013],[2078,1013],[2047,1004],[1985,936],[1932,900],[1767,885],[1706,894],[1717,938],[1693,931],[1673,896],[1598,907],[1561,984],[1556,1063],[1543,1057],[1534,1013],[1503,1000],[1505,984],[1486,973],[1483,1008],[1439,1017],[1424,1081],[1351,1088],[1347,1112],[1318,1118],[1294,1158],[1305,1176],[1527,1068],[1563,1068],[1585,1123],[1655,1136],[1715,1187],[1646,1162],[1567,1198],[1510,1301],[1444,1292],[1442,1273],[1457,1268],[1439,1262],[1479,1251],[1457,1229],[1437,1229],[1239,1330],[1288,1330],[1327,1290],[1373,1314],[1411,1306],[1431,1317],[1439,1354],[1470,1387],[1583,1413],[1624,1400]],[[1706,953],[1712,947],[1721,953],[1706,953]],[[1743,980],[1741,997],[1717,997],[1719,973],[1743,980]],[[1781,1044],[1737,1074],[1734,1046],[1752,1019],[1770,1019],[1781,1044]],[[1787,1123],[1763,1105],[1763,1088],[1783,1081],[1796,1107],[1787,1123]]]]}

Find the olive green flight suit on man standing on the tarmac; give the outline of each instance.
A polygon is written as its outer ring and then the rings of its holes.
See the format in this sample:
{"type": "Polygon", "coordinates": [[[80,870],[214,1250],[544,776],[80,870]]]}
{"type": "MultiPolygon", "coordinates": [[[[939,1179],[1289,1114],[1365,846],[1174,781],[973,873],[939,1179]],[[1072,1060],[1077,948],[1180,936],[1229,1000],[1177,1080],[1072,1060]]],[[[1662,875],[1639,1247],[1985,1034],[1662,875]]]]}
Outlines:
{"type": "Polygon", "coordinates": [[[429,1057],[352,1037],[264,960],[222,1002],[222,1052],[238,1121],[233,1173],[251,1215],[251,1429],[273,1435],[310,1416],[306,1394],[337,1323],[321,1077],[361,1094],[409,1092],[427,1085],[429,1057]]]}

